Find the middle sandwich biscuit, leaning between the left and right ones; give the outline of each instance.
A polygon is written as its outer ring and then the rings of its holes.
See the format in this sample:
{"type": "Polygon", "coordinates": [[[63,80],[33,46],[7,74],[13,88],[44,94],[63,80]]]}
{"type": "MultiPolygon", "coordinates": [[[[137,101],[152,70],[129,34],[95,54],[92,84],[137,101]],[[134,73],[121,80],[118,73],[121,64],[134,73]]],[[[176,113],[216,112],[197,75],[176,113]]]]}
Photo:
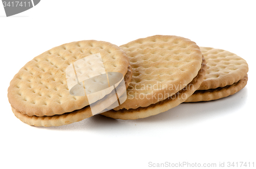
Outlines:
{"type": "Polygon", "coordinates": [[[127,100],[102,115],[137,119],[184,102],[201,85],[206,62],[199,46],[178,36],[156,35],[121,45],[133,67],[127,100]]]}

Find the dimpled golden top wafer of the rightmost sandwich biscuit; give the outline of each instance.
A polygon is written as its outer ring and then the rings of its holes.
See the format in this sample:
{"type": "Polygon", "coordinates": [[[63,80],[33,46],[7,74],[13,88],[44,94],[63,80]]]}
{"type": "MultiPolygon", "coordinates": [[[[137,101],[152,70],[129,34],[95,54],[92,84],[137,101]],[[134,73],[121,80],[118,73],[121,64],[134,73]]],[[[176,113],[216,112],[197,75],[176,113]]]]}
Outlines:
{"type": "Polygon", "coordinates": [[[200,47],[200,49],[207,62],[207,71],[198,90],[232,85],[246,76],[248,64],[243,58],[212,47],[200,47]]]}

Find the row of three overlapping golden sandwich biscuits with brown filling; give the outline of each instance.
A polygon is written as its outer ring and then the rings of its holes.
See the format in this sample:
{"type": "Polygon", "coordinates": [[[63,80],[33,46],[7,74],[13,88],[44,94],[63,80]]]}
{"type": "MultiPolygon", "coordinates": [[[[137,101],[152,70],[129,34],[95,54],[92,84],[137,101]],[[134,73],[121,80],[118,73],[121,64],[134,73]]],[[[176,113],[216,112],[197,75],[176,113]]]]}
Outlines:
{"type": "MultiPolygon", "coordinates": [[[[121,46],[83,40],[54,47],[18,71],[8,88],[14,115],[31,126],[44,127],[67,125],[94,115],[88,95],[72,94],[67,67],[73,64],[76,77],[90,77],[96,71],[93,62],[88,62],[88,71],[83,72],[74,63],[95,54],[100,54],[106,73],[119,73],[125,83],[126,91],[124,88],[121,94],[126,92],[126,100],[120,104],[116,93],[119,104],[99,112],[112,118],[145,118],[183,102],[221,99],[241,90],[248,80],[248,64],[241,57],[199,47],[183,37],[155,35],[121,46]]],[[[84,87],[84,82],[75,78],[74,83],[84,87]]],[[[104,105],[108,96],[94,100],[104,105]]]]}

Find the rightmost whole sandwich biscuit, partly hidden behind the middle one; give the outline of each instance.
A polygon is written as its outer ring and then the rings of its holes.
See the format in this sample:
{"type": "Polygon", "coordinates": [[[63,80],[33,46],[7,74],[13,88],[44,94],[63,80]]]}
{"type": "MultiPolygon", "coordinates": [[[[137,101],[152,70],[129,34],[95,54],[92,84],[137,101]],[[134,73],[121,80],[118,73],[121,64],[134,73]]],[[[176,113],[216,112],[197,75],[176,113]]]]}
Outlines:
{"type": "Polygon", "coordinates": [[[247,84],[247,62],[231,52],[200,47],[207,70],[204,81],[185,102],[211,101],[232,95],[247,84]]]}

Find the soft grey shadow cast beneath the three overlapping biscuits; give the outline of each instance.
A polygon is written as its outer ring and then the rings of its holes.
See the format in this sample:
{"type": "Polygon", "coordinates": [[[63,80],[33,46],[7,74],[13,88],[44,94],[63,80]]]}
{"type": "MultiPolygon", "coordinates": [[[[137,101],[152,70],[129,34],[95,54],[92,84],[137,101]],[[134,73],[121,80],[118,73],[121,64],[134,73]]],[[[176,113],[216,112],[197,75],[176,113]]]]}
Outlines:
{"type": "Polygon", "coordinates": [[[102,133],[102,131],[109,133],[109,131],[115,129],[118,130],[117,133],[125,133],[131,132],[131,130],[134,131],[133,126],[135,125],[137,125],[136,130],[140,128],[143,130],[152,130],[152,126],[168,127],[166,125],[192,125],[202,122],[203,120],[231,114],[233,112],[232,109],[239,110],[246,103],[247,95],[248,89],[245,86],[236,94],[226,98],[208,102],[182,103],[166,112],[146,118],[122,120],[97,114],[70,125],[39,128],[45,130],[98,131],[99,133],[102,133]]]}

